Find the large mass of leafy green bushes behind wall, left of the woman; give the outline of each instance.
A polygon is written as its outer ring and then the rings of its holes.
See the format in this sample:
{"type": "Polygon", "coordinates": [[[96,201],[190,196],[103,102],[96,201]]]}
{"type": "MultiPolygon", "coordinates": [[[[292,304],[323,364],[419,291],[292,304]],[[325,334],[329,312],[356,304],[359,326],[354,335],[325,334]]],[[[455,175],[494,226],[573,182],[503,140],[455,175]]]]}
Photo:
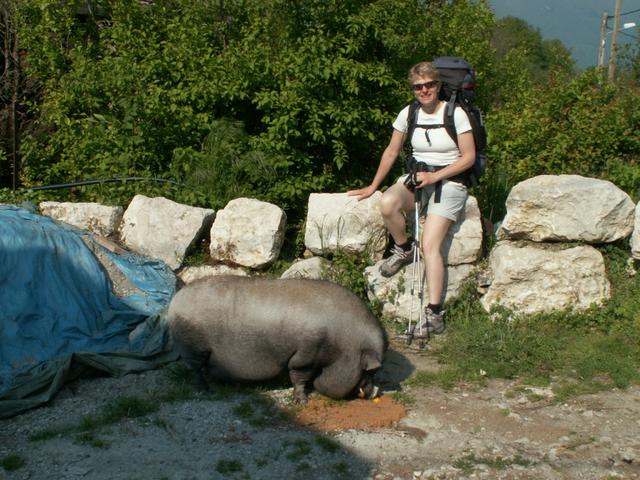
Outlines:
{"type": "MultiPolygon", "coordinates": [[[[246,194],[299,209],[311,191],[373,175],[413,63],[491,55],[493,18],[475,2],[101,0],[85,22],[66,5],[20,5],[29,73],[46,92],[22,135],[27,186],[172,177],[182,185],[160,190],[180,201],[246,194]]],[[[137,188],[73,196],[126,203],[137,188]]]]}

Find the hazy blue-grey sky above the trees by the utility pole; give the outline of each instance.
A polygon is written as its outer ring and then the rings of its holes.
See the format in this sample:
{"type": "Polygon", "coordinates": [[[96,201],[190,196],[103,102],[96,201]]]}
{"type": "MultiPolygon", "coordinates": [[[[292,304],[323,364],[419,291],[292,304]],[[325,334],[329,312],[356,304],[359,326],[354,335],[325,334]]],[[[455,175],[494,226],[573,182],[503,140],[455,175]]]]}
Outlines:
{"type": "MultiPolygon", "coordinates": [[[[519,17],[540,30],[545,39],[559,39],[569,48],[576,63],[581,68],[598,63],[600,43],[600,23],[602,14],[613,17],[615,0],[489,0],[498,18],[519,17]]],[[[640,25],[640,0],[622,0],[620,23],[635,22],[640,25]],[[627,13],[632,12],[632,13],[627,13]],[[624,15],[627,13],[626,15],[624,15]]],[[[613,29],[613,18],[609,19],[609,30],[613,29]]],[[[636,26],[624,33],[640,37],[636,26]]],[[[609,55],[611,34],[607,35],[606,52],[609,55]]],[[[635,42],[619,33],[618,40],[635,42]]],[[[606,62],[606,59],[605,59],[606,62]]]]}

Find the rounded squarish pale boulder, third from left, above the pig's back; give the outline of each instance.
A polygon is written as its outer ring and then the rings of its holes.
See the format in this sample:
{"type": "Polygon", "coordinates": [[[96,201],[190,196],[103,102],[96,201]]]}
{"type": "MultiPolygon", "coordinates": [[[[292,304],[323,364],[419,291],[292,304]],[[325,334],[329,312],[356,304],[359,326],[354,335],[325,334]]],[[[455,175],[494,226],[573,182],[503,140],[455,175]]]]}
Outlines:
{"type": "Polygon", "coordinates": [[[218,211],[211,227],[211,257],[260,268],[273,262],[284,241],[287,216],[280,207],[236,198],[218,211]]]}

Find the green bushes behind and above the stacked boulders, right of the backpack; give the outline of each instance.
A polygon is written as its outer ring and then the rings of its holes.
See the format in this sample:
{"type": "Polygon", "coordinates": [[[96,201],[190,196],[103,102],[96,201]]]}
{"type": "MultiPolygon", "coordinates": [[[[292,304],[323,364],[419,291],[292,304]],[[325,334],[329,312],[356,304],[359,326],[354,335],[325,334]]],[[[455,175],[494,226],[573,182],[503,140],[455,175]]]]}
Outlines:
{"type": "Polygon", "coordinates": [[[513,181],[541,174],[603,178],[636,195],[638,89],[603,85],[594,71],[528,88],[487,119],[490,168],[513,181]]]}

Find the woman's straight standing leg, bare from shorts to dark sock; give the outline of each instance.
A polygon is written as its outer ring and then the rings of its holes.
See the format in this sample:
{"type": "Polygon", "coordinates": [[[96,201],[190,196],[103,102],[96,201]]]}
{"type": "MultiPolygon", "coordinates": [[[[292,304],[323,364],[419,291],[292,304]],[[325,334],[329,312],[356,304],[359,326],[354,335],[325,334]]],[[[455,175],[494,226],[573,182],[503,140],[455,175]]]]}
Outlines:
{"type": "Polygon", "coordinates": [[[444,290],[442,243],[453,221],[440,215],[427,215],[422,232],[422,252],[427,277],[429,303],[439,305],[444,290]]]}

